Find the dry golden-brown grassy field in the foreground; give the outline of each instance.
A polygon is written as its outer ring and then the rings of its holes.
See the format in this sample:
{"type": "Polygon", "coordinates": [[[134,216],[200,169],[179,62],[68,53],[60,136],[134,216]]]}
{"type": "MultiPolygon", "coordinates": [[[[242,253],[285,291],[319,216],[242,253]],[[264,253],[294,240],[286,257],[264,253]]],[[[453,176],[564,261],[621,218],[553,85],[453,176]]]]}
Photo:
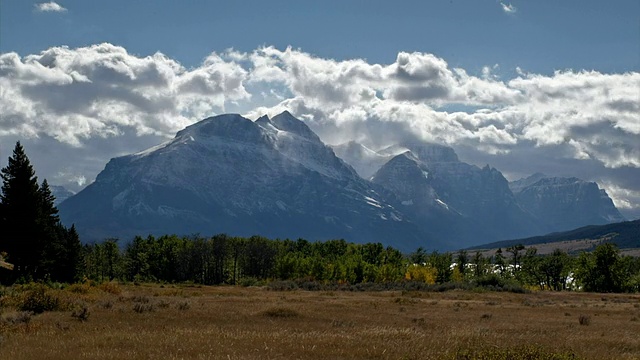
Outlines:
{"type": "Polygon", "coordinates": [[[29,315],[3,292],[1,359],[640,359],[639,295],[103,284],[29,315]]]}

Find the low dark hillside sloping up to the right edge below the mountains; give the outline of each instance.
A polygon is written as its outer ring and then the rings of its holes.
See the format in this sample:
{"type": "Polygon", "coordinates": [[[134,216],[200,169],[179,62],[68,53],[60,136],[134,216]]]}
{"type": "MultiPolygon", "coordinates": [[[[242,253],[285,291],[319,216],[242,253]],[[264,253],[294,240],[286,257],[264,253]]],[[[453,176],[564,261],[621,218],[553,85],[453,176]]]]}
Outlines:
{"type": "Polygon", "coordinates": [[[574,230],[534,236],[524,239],[498,241],[474,246],[472,249],[495,249],[523,244],[537,245],[570,240],[596,240],[609,238],[620,249],[640,248],[640,220],[624,221],[606,225],[583,226],[574,230]]]}

